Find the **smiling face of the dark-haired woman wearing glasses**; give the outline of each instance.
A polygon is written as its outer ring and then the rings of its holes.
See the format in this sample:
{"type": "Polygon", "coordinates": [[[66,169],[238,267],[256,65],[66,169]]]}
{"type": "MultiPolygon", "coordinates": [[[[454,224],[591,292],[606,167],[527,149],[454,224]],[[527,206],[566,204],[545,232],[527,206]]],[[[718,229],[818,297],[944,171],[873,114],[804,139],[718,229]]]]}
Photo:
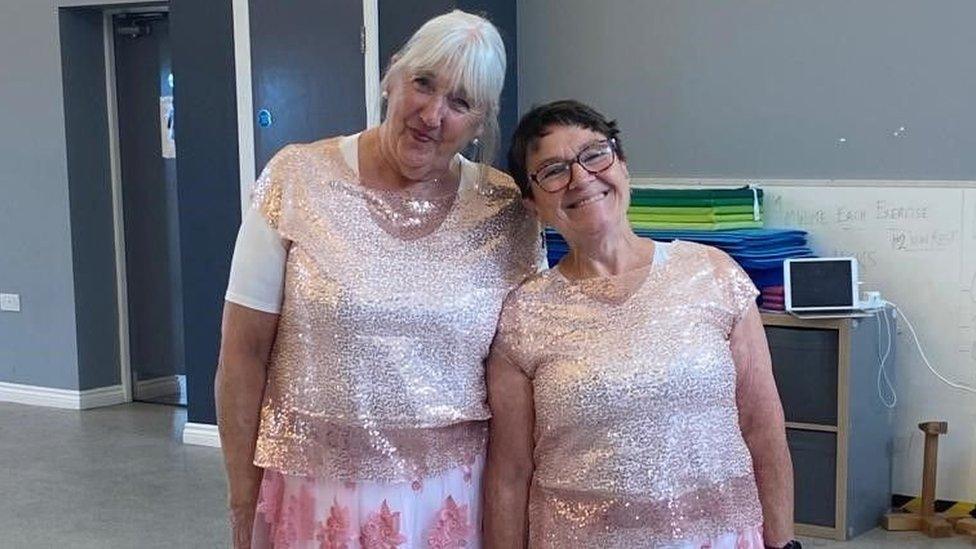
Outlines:
{"type": "MultiPolygon", "coordinates": [[[[580,126],[552,126],[529,147],[525,166],[536,174],[554,162],[573,162],[588,146],[607,136],[580,126]]],[[[571,165],[571,180],[562,190],[547,192],[530,183],[532,198],[526,206],[547,225],[569,241],[592,239],[614,233],[627,226],[630,181],[627,165],[617,158],[609,168],[591,174],[578,163],[571,165]]]]}

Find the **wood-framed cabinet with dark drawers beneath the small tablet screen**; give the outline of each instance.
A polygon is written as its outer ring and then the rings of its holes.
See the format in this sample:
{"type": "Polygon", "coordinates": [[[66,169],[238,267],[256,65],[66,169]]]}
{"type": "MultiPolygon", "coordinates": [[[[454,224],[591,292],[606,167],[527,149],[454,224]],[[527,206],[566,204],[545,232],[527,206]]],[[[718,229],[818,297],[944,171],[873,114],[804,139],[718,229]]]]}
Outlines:
{"type": "Polygon", "coordinates": [[[848,539],[877,526],[890,505],[892,413],[878,396],[878,322],[763,314],[799,535],[848,539]]]}

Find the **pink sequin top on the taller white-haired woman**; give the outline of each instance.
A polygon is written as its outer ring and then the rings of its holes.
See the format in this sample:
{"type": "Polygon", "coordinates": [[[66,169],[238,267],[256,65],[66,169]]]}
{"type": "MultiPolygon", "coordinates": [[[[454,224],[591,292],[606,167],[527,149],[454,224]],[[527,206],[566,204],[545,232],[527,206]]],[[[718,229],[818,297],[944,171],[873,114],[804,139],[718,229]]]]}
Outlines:
{"type": "Polygon", "coordinates": [[[418,480],[483,451],[483,360],[538,225],[508,176],[460,157],[441,197],[365,187],[342,139],[286,147],[255,188],[289,247],[254,463],[418,480]]]}

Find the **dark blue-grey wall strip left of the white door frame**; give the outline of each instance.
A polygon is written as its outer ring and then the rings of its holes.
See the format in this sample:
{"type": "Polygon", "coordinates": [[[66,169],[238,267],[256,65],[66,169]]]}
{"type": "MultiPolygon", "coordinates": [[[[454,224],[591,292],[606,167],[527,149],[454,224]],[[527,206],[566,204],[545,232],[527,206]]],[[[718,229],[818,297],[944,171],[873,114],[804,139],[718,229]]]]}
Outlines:
{"type": "Polygon", "coordinates": [[[121,383],[100,10],[59,13],[80,389],[121,383]]]}

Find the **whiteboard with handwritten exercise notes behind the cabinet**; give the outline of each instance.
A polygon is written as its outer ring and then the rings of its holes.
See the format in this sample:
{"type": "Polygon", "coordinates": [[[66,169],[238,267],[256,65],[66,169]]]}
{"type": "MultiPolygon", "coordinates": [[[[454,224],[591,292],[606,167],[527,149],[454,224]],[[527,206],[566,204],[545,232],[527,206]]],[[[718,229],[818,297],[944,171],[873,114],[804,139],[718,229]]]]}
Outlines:
{"type": "MultiPolygon", "coordinates": [[[[862,291],[879,290],[897,303],[932,365],[976,386],[976,188],[891,185],[765,186],[766,226],[808,230],[818,255],[856,257],[862,291]]],[[[937,495],[976,501],[976,395],[929,372],[901,320],[895,341],[894,492],[920,493],[917,424],[945,420],[937,495]]]]}

